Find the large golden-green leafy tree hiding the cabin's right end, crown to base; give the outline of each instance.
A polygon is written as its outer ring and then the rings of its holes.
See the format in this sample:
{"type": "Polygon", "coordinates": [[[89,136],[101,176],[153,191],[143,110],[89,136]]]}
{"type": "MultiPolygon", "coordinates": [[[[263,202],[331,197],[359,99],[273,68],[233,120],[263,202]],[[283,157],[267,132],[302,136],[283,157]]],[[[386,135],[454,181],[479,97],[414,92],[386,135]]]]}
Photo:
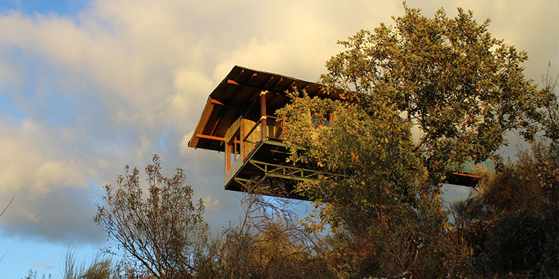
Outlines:
{"type": "Polygon", "coordinates": [[[294,92],[277,112],[290,159],[339,174],[298,190],[319,209],[307,225],[330,225],[333,252],[350,255],[335,257],[342,277],[454,272],[443,257],[445,172],[467,161],[500,163],[507,131],[532,140],[557,102],[525,80],[527,54],[493,38],[489,20],[478,24],[461,8],[433,19],[404,9],[395,27],[339,42],[345,50],[326,62],[320,82],[344,89],[342,100],[294,92]],[[333,115],[330,127],[311,115],[333,115]]]}

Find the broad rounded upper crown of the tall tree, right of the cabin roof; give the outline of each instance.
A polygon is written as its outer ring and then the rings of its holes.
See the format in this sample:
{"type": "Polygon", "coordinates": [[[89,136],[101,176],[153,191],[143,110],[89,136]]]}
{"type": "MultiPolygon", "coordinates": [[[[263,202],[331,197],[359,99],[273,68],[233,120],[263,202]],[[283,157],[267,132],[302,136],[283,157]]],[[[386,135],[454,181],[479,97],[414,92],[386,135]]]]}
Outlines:
{"type": "Polygon", "coordinates": [[[448,18],[441,9],[431,19],[404,8],[394,28],[381,24],[340,41],[345,51],[326,62],[321,82],[346,90],[369,114],[381,101],[394,105],[419,134],[415,148],[433,174],[496,160],[507,130],[533,139],[556,96],[525,80],[528,55],[493,38],[489,20],[478,24],[471,11],[448,18]]]}

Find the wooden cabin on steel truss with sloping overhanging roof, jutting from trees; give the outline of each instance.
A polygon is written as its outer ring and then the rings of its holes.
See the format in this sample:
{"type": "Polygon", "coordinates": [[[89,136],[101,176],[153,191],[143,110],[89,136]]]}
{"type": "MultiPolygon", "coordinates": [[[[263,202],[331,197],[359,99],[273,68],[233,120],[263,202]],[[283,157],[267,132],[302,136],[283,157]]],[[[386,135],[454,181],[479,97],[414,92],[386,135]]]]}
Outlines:
{"type": "MultiPolygon", "coordinates": [[[[319,98],[337,99],[343,93],[327,93],[313,82],[240,66],[233,67],[210,93],[188,146],[224,152],[226,190],[242,191],[248,181],[268,178],[281,182],[289,192],[298,181],[328,175],[286,163],[289,151],[275,110],[289,103],[286,91],[293,87],[319,98]]],[[[448,183],[462,186],[473,187],[477,179],[464,172],[447,174],[448,183]]]]}

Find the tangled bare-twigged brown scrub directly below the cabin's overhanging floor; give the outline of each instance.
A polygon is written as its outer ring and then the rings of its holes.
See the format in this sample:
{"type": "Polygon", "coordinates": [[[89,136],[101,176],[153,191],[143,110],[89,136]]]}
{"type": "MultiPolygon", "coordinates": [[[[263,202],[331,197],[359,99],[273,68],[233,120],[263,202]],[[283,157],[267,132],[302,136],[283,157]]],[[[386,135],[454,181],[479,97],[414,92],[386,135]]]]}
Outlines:
{"type": "MultiPolygon", "coordinates": [[[[270,182],[273,183],[273,182],[270,182]]],[[[258,186],[257,186],[258,185],[258,186]]],[[[325,260],[326,243],[298,222],[287,199],[264,197],[270,193],[247,186],[245,209],[238,227],[222,232],[215,278],[334,278],[325,260]],[[253,193],[260,193],[259,195],[253,193]]]]}

